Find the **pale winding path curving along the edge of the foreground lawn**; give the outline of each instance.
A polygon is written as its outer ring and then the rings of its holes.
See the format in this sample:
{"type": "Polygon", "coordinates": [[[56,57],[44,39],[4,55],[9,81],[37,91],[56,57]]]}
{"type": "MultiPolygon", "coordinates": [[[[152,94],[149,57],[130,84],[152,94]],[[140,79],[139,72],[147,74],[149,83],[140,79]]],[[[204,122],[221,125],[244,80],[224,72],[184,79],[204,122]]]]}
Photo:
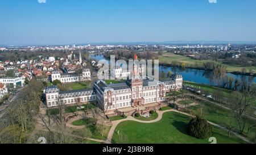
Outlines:
{"type": "MultiPolygon", "coordinates": [[[[158,113],[158,118],[155,119],[155,120],[150,120],[150,121],[143,121],[143,120],[138,120],[138,119],[135,119],[133,116],[128,116],[126,119],[121,119],[121,120],[115,120],[112,122],[112,127],[110,128],[110,131],[108,133],[108,137],[107,137],[107,140],[106,140],[106,143],[107,144],[111,144],[112,143],[112,138],[113,138],[113,134],[114,134],[114,131],[115,131],[115,128],[117,127],[117,125],[121,122],[125,122],[127,120],[131,120],[131,121],[135,121],[135,122],[139,122],[139,123],[155,123],[155,122],[159,122],[159,120],[161,120],[163,118],[163,114],[166,113],[166,112],[177,112],[179,114],[183,114],[183,115],[187,115],[187,116],[191,116],[191,117],[195,117],[193,115],[190,115],[190,114],[187,114],[185,112],[181,112],[181,111],[177,111],[177,110],[174,110],[174,109],[170,109],[170,110],[165,110],[165,111],[156,111],[158,113]]],[[[225,127],[222,127],[221,125],[218,125],[218,124],[215,124],[215,123],[212,123],[212,122],[209,122],[208,123],[210,125],[213,125],[214,127],[218,127],[218,128],[221,128],[221,129],[224,129],[225,131],[228,131],[228,129],[226,129],[225,127]]],[[[233,133],[234,135],[236,135],[237,137],[239,137],[240,139],[246,141],[247,143],[251,143],[251,141],[249,141],[245,136],[242,136],[240,135],[239,133],[236,133],[236,132],[233,132],[231,131],[230,133],[233,133]]]]}

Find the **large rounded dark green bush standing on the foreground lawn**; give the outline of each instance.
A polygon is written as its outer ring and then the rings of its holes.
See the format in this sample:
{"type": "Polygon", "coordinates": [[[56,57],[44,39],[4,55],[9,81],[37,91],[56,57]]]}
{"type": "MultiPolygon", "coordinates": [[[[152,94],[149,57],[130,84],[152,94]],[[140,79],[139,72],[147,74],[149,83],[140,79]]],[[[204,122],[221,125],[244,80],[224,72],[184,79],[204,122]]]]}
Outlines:
{"type": "Polygon", "coordinates": [[[207,120],[196,116],[188,123],[188,133],[197,139],[207,139],[212,135],[212,127],[207,120]]]}

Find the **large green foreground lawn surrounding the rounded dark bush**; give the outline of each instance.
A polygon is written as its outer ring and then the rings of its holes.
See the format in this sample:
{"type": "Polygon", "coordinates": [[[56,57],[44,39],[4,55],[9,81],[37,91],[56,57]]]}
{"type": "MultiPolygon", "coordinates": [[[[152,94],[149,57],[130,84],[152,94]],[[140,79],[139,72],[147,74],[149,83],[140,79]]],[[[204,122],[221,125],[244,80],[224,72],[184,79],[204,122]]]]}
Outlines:
{"type": "MultiPolygon", "coordinates": [[[[189,136],[186,128],[191,118],[176,112],[166,112],[156,123],[126,121],[118,124],[113,135],[114,143],[128,144],[209,144],[208,139],[200,140],[189,136]],[[122,134],[122,139],[118,135],[122,134]]],[[[217,143],[245,143],[235,136],[230,138],[225,131],[213,127],[217,143]]]]}

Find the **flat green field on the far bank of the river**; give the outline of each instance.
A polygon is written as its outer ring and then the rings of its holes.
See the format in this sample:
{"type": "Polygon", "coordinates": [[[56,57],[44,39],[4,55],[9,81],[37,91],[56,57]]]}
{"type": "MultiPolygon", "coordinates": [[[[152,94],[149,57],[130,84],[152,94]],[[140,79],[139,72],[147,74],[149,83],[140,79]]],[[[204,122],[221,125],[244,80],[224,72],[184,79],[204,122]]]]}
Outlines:
{"type": "MultiPolygon", "coordinates": [[[[164,53],[163,56],[159,56],[160,64],[171,64],[173,61],[184,63],[186,66],[203,66],[205,62],[216,62],[213,60],[195,60],[187,56],[175,55],[174,53],[164,53]]],[[[223,65],[226,66],[228,72],[241,72],[242,68],[246,68],[247,72],[250,69],[256,71],[256,66],[223,65]]]]}

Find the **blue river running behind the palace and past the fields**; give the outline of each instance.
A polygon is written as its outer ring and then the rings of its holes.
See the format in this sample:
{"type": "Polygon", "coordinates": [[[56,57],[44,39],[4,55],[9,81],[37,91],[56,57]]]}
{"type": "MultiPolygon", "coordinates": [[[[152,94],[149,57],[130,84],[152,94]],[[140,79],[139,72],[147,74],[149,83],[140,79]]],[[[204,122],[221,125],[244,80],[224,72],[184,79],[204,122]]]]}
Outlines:
{"type": "MultiPolygon", "coordinates": [[[[103,55],[90,55],[90,58],[94,58],[95,60],[105,60],[103,55]]],[[[177,67],[171,67],[171,66],[159,66],[159,72],[168,73],[171,70],[172,73],[178,73],[181,74],[185,81],[191,81],[196,83],[203,83],[206,85],[213,85],[213,81],[211,80],[212,72],[211,71],[205,71],[205,70],[199,70],[199,69],[182,69],[177,67]]],[[[226,73],[226,76],[233,77],[234,79],[241,80],[242,78],[251,79],[256,83],[255,77],[250,76],[242,76],[242,75],[235,75],[232,73],[226,73]]]]}

